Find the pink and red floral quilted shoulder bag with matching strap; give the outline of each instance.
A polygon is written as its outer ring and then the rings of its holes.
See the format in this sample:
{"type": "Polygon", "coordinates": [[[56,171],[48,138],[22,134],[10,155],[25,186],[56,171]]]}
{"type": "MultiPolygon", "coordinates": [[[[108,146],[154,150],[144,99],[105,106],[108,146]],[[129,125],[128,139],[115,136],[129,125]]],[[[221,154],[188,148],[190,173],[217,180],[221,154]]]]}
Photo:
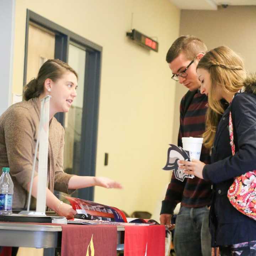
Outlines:
{"type": "MultiPolygon", "coordinates": [[[[232,155],[235,155],[231,112],[229,112],[229,136],[232,155]]],[[[239,212],[256,220],[256,170],[234,178],[228,190],[228,199],[239,212]]]]}

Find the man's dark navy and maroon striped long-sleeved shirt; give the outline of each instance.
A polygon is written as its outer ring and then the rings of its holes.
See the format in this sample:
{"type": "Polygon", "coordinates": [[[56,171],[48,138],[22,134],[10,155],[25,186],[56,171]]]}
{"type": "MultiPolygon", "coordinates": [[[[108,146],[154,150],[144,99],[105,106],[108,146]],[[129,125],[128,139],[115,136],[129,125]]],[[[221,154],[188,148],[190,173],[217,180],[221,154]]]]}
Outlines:
{"type": "MultiPolygon", "coordinates": [[[[182,137],[202,137],[205,131],[205,115],[208,98],[198,91],[184,113],[185,96],[180,104],[180,130],[178,134],[178,146],[182,147],[182,137]]],[[[209,150],[202,146],[200,160],[205,164],[210,163],[209,150]]],[[[178,203],[188,208],[203,207],[210,204],[211,183],[198,177],[185,178],[179,181],[172,173],[171,182],[162,201],[162,213],[173,214],[178,203]]]]}

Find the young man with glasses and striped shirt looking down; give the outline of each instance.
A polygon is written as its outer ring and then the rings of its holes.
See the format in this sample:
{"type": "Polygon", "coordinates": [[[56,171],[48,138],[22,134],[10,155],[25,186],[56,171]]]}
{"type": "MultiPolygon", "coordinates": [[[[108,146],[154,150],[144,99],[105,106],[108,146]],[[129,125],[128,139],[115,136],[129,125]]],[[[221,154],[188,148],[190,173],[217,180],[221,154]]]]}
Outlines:
{"type": "MultiPolygon", "coordinates": [[[[196,67],[206,53],[206,45],[193,36],[181,36],[172,44],[166,55],[166,61],[172,71],[172,79],[188,88],[180,104],[180,130],[178,146],[182,146],[182,137],[201,137],[205,130],[207,96],[200,94],[200,82],[196,67]]],[[[202,146],[201,161],[208,164],[209,151],[202,146]]],[[[211,184],[194,178],[185,178],[183,182],[172,173],[166,196],[162,201],[161,224],[171,226],[171,218],[178,203],[180,212],[176,218],[174,249],[176,256],[210,256],[210,233],[208,217],[211,184]]]]}

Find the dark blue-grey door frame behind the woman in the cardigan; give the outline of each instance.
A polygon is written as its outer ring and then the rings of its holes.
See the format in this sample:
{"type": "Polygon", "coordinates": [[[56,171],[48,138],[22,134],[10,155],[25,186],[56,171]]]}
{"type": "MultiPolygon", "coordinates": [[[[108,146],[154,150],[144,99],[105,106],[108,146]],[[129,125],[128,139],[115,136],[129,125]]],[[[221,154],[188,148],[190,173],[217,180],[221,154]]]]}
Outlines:
{"type": "MultiPolygon", "coordinates": [[[[95,176],[102,47],[27,9],[24,86],[27,77],[29,22],[55,33],[55,59],[68,62],[69,42],[75,42],[86,49],[79,175],[95,176]]],[[[57,113],[55,117],[64,126],[64,114],[57,113]]],[[[79,190],[78,197],[93,201],[94,187],[79,190]]]]}

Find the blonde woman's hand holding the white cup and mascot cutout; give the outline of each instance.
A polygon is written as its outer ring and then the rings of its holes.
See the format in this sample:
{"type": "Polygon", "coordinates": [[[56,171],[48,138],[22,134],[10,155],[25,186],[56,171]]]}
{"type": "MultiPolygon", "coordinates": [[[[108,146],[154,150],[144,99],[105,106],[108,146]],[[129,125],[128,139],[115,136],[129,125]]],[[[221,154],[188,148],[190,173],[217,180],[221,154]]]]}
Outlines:
{"type": "Polygon", "coordinates": [[[203,162],[197,159],[193,159],[192,162],[178,160],[178,165],[180,169],[183,169],[185,174],[193,174],[194,176],[203,179],[203,167],[205,165],[203,162]]]}

